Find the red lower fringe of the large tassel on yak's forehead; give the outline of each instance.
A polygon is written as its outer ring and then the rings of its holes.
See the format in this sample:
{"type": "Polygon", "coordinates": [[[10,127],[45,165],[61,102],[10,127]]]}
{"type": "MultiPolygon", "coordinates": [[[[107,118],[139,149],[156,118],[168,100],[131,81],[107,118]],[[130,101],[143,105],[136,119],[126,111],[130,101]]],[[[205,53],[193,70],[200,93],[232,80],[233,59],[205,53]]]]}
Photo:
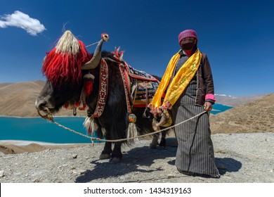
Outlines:
{"type": "Polygon", "coordinates": [[[60,87],[63,83],[78,84],[81,82],[81,65],[91,60],[91,54],[86,51],[84,43],[80,40],[79,53],[56,53],[56,48],[46,56],[42,72],[47,80],[60,87]]]}

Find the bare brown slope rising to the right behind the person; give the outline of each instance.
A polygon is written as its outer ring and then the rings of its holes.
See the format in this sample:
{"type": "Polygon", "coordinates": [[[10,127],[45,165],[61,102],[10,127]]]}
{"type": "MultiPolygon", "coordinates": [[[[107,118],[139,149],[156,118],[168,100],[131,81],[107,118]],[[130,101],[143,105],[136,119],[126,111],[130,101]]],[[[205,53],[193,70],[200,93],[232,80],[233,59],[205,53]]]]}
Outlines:
{"type": "Polygon", "coordinates": [[[211,132],[274,132],[274,94],[211,115],[211,132]]]}

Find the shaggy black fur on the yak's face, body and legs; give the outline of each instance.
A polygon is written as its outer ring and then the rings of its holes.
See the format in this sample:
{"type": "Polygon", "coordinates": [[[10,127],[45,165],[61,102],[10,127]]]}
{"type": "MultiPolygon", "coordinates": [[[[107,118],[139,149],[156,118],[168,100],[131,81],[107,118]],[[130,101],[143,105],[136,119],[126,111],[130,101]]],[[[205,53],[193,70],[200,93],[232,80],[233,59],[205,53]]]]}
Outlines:
{"type": "MultiPolygon", "coordinates": [[[[94,121],[98,123],[98,135],[106,139],[126,139],[128,122],[128,112],[126,110],[126,97],[124,93],[124,84],[122,82],[122,76],[119,72],[119,65],[115,63],[115,58],[113,58],[112,53],[107,51],[102,51],[102,58],[108,65],[109,70],[109,84],[107,93],[107,102],[105,104],[105,110],[103,114],[94,118],[94,121]],[[114,60],[110,61],[108,58],[114,60]],[[102,130],[105,129],[105,135],[103,135],[102,130]]],[[[87,71],[83,71],[83,76],[87,71]]],[[[86,103],[89,106],[91,113],[94,112],[96,108],[96,103],[98,99],[98,89],[99,89],[99,72],[100,65],[91,73],[95,76],[93,82],[93,92],[86,98],[86,103]]],[[[50,105],[53,107],[51,109],[53,112],[58,111],[65,103],[75,103],[79,101],[79,96],[81,94],[82,84],[61,84],[60,88],[53,87],[51,82],[47,82],[45,87],[42,89],[37,100],[40,100],[41,105],[50,105]],[[45,102],[41,102],[44,99],[45,102]],[[50,103],[50,104],[49,104],[50,103]]],[[[49,107],[49,106],[48,106],[49,107]]],[[[41,108],[41,106],[39,106],[41,108]]],[[[152,129],[152,115],[151,118],[143,117],[143,112],[145,108],[133,108],[132,113],[137,117],[136,127],[138,129],[138,134],[147,134],[154,132],[152,129]]],[[[154,144],[157,141],[159,135],[154,135],[154,144]]],[[[126,143],[126,141],[115,143],[115,147],[112,150],[110,143],[105,143],[104,150],[101,154],[101,158],[122,158],[121,145],[126,143]]],[[[152,142],[153,143],[153,142],[152,142]]]]}

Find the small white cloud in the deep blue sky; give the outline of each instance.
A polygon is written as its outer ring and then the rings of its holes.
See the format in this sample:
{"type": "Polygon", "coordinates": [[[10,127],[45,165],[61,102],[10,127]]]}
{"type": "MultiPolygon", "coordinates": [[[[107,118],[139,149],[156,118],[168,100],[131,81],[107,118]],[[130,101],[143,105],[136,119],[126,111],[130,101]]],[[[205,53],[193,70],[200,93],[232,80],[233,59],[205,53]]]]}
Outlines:
{"type": "Polygon", "coordinates": [[[32,36],[36,36],[38,33],[46,30],[39,20],[30,18],[29,15],[20,11],[15,11],[11,15],[0,15],[0,28],[6,28],[8,26],[22,28],[32,36]]]}

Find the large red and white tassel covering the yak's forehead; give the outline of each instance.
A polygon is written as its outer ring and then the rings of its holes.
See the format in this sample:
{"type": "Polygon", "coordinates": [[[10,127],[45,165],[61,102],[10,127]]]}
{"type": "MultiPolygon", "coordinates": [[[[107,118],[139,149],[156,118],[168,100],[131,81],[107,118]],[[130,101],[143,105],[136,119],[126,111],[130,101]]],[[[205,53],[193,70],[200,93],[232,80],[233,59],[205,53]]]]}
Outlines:
{"type": "Polygon", "coordinates": [[[42,72],[47,80],[60,87],[63,83],[81,82],[81,65],[91,60],[84,43],[66,31],[56,47],[47,53],[42,72]]]}

